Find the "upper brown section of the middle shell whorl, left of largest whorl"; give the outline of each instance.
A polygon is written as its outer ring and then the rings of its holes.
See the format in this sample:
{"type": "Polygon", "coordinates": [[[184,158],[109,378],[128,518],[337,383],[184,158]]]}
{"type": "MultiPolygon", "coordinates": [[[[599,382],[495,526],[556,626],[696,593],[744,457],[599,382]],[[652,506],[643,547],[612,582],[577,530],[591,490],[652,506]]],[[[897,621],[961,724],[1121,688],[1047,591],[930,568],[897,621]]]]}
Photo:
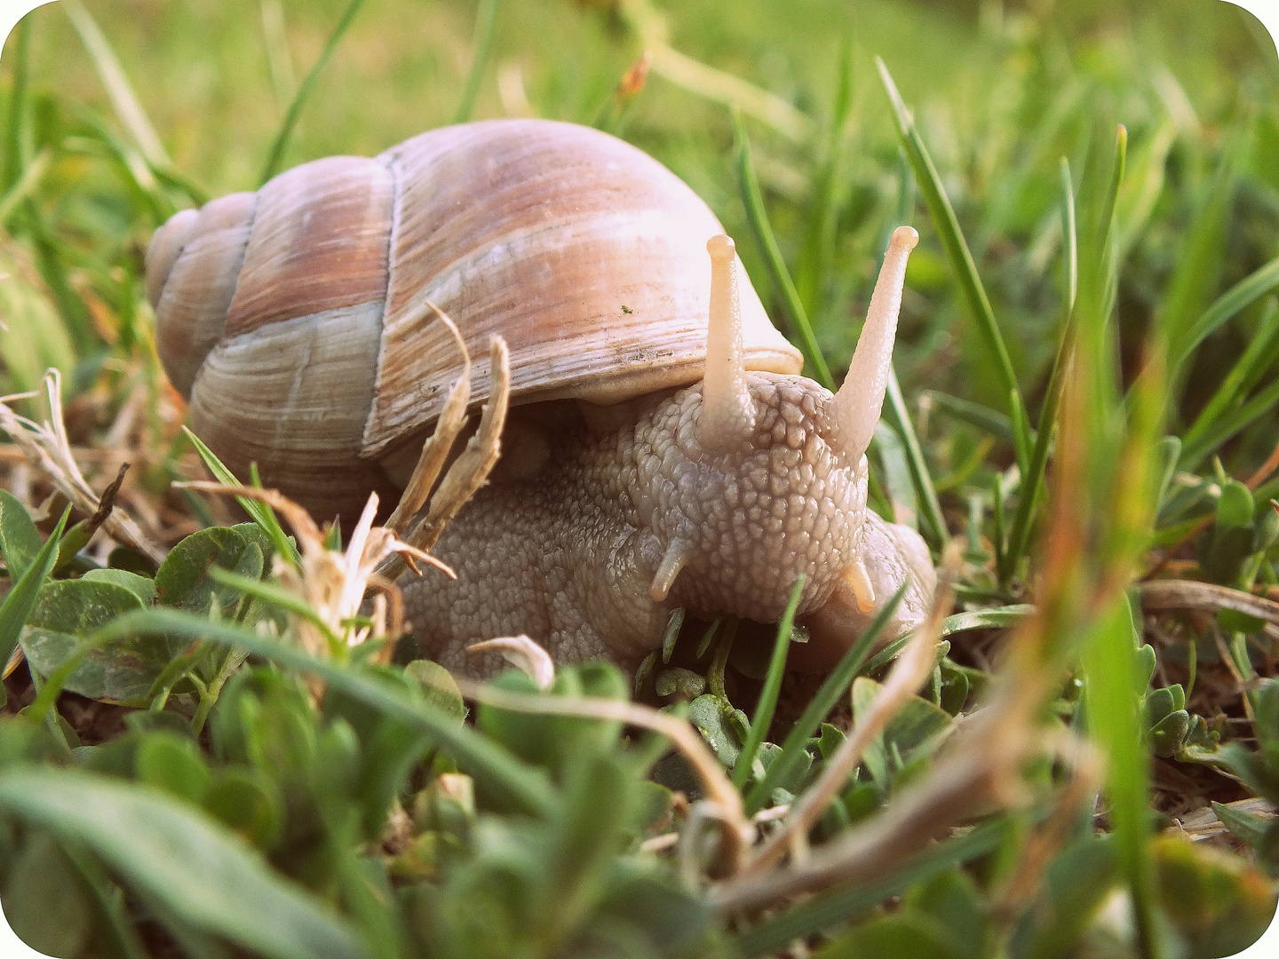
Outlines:
{"type": "Polygon", "coordinates": [[[391,210],[385,165],[315,160],[281,173],[258,196],[228,336],[382,299],[391,210]]]}

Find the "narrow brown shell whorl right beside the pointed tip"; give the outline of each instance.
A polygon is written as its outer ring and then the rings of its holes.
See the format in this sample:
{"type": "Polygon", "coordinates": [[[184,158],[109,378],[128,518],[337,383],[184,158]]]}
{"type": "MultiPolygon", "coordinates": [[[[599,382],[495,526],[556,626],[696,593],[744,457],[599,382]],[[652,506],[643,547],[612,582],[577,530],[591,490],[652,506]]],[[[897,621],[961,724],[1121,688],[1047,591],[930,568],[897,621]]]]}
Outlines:
{"type": "MultiPolygon", "coordinates": [[[[200,364],[223,338],[256,203],[256,193],[231,193],[205,203],[168,279],[157,284],[156,350],[169,380],[183,396],[191,395],[200,364]]],[[[184,214],[178,216],[189,219],[184,214]]],[[[157,251],[156,266],[166,257],[168,253],[161,256],[157,251]]],[[[148,262],[148,271],[150,267],[148,262]]],[[[152,286],[150,272],[147,286],[148,290],[152,286]]]]}

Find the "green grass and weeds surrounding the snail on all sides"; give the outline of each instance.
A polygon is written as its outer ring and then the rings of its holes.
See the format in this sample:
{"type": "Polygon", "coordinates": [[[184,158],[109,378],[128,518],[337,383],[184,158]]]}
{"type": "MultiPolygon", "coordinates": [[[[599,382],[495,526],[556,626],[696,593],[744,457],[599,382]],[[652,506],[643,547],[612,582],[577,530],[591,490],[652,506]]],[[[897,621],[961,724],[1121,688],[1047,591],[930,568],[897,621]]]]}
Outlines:
{"type": "Polygon", "coordinates": [[[0,717],[10,922],[129,959],[1247,945],[1279,875],[1262,40],[1191,0],[31,14],[0,69],[3,391],[60,368],[47,455],[95,488],[132,462],[116,503],[171,550],[79,550],[49,477],[0,448],[0,648],[26,653],[0,717]],[[155,357],[151,231],[303,160],[505,114],[604,124],[684,178],[826,385],[886,237],[920,230],[871,497],[953,581],[935,634],[867,635],[804,679],[788,623],[758,644],[675,621],[634,682],[459,690],[381,620],[308,602],[340,531],[290,538],[247,499],[237,526],[169,486],[220,474],[155,357]],[[811,827],[779,850],[789,811],[811,827]]]}

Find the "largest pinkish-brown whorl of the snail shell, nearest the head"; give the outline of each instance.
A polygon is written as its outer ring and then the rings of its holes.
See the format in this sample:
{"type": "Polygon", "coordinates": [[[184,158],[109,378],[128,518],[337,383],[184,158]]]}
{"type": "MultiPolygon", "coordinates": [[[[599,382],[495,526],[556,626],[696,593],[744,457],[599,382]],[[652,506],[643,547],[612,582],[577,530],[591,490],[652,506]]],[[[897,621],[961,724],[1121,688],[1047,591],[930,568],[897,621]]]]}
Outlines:
{"type": "MultiPolygon", "coordinates": [[[[723,228],[674,174],[590,128],[490,120],[422,134],[382,155],[400,180],[381,362],[363,454],[440,412],[457,350],[487,396],[489,338],[506,338],[515,402],[597,403],[701,378],[707,238],[723,228]]],[[[747,366],[793,373],[799,353],[742,274],[747,366]]]]}

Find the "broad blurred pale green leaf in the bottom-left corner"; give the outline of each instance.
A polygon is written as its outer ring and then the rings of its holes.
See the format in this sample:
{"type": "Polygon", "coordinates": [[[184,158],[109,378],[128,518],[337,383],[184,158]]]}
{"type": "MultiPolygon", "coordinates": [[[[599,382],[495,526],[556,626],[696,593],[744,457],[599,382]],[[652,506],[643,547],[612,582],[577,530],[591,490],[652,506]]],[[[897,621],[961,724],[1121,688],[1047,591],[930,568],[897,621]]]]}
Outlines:
{"type": "Polygon", "coordinates": [[[356,932],[240,836],[148,786],[68,768],[0,774],[0,807],[93,850],[191,926],[271,959],[361,959],[356,932]]]}

